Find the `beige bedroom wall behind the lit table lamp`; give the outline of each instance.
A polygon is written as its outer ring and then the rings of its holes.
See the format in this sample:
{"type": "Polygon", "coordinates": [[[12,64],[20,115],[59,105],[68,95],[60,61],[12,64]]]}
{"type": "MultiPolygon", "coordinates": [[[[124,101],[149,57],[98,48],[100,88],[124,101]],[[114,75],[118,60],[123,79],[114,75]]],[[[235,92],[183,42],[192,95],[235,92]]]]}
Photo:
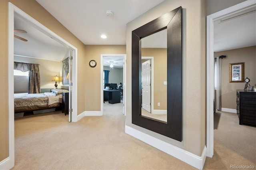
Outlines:
{"type": "MultiPolygon", "coordinates": [[[[61,61],[49,61],[44,59],[35,59],[35,58],[18,57],[18,56],[14,56],[14,61],[39,64],[41,88],[54,89],[55,81],[52,81],[52,77],[55,75],[58,75],[61,77],[61,72],[62,72],[61,61]]],[[[60,88],[60,86],[62,85],[61,81],[57,82],[57,84],[58,84],[58,88],[60,88]]]]}

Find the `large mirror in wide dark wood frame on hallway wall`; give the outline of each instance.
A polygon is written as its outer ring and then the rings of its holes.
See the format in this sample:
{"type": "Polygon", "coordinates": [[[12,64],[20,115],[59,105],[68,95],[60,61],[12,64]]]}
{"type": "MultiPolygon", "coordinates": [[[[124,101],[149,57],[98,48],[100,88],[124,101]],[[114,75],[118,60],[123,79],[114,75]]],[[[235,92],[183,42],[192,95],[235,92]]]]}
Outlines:
{"type": "MultiPolygon", "coordinates": [[[[151,51],[156,51],[156,48],[158,48],[157,50],[160,51],[159,47],[154,45],[151,47],[148,46],[147,48],[151,48],[151,51]]],[[[156,53],[156,55],[152,57],[156,60],[160,57],[160,52],[154,53],[156,53]]],[[[152,69],[148,68],[148,71],[152,71],[152,69]]],[[[164,115],[164,112],[162,113],[164,115]]],[[[132,31],[132,124],[182,141],[181,6],[132,31]],[[166,38],[163,38],[162,35],[165,35],[166,38]],[[147,65],[151,65],[151,63],[150,61],[142,59],[142,53],[146,50],[143,46],[148,43],[146,39],[153,40],[150,44],[160,44],[160,42],[158,42],[159,39],[166,43],[166,47],[160,47],[161,51],[166,51],[165,54],[162,54],[163,56],[166,55],[165,61],[161,62],[162,67],[166,68],[166,73],[157,72],[155,69],[154,73],[147,73],[147,65]],[[163,91],[165,90],[163,93],[166,94],[161,95],[159,99],[152,99],[152,95],[158,94],[156,90],[154,90],[154,94],[145,92],[147,88],[145,85],[152,85],[152,83],[154,83],[151,82],[151,78],[147,78],[152,74],[154,77],[160,77],[162,74],[166,77],[159,80],[160,83],[163,83],[165,86],[154,87],[154,89],[159,88],[163,89],[163,91]],[[146,81],[144,81],[145,79],[146,81]],[[147,110],[146,107],[153,108],[151,103],[155,103],[154,105],[157,103],[160,107],[160,102],[158,103],[157,101],[160,100],[160,98],[166,99],[166,101],[163,100],[162,102],[166,103],[166,116],[163,117],[163,119],[158,119],[150,116],[150,114],[152,115],[152,111],[150,111],[148,115],[144,114],[144,110],[147,110]],[[154,100],[154,102],[151,100],[154,100]],[[143,107],[144,105],[145,107],[143,107]]]]}

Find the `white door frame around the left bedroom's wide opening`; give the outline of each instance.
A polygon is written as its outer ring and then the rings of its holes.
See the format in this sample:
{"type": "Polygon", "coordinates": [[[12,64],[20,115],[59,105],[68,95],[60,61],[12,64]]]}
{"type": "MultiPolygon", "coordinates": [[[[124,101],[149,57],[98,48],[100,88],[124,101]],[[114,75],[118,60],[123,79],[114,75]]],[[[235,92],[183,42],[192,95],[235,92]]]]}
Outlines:
{"type": "Polygon", "coordinates": [[[70,43],[66,42],[63,38],[46,28],[40,22],[36,21],[34,18],[20,10],[18,7],[14,6],[12,3],[8,3],[9,11],[8,11],[8,21],[9,21],[9,33],[8,33],[8,95],[9,95],[9,158],[6,160],[6,163],[9,166],[9,169],[14,167],[14,76],[13,76],[13,69],[14,69],[14,13],[20,15],[24,20],[30,22],[30,24],[35,27],[36,29],[40,30],[47,36],[54,38],[54,40],[68,46],[72,53],[74,54],[72,60],[72,122],[77,121],[77,48],[71,45],[70,43]]]}

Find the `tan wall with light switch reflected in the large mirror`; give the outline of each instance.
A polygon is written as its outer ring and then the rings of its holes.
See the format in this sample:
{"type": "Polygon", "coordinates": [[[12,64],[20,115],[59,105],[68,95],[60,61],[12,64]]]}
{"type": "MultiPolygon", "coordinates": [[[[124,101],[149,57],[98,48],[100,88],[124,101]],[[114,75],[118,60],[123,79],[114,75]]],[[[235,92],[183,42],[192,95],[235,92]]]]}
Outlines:
{"type": "Polygon", "coordinates": [[[141,56],[154,57],[154,109],[167,109],[167,49],[142,48],[141,56]],[[160,103],[160,106],[157,106],[160,103]]]}

